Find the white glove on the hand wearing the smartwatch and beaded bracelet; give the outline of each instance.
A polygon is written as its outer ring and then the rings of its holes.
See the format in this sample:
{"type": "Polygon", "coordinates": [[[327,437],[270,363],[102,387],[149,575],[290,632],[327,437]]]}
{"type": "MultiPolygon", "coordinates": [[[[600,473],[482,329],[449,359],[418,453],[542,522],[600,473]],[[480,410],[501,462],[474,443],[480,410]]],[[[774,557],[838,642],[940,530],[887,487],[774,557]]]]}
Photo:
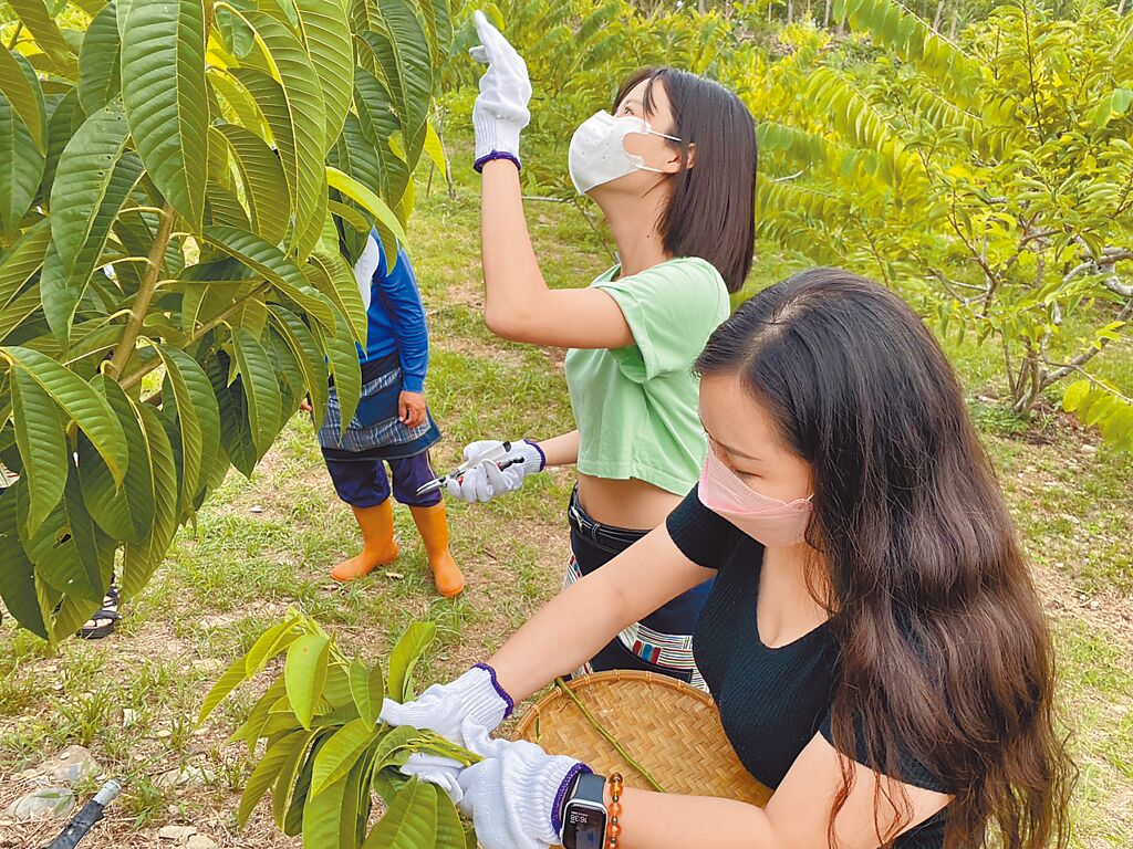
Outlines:
{"type": "Polygon", "coordinates": [[[559,843],[561,808],[571,780],[590,767],[548,755],[526,740],[493,740],[469,729],[469,748],[485,760],[458,777],[461,812],[483,849],[546,849],[559,843]]]}

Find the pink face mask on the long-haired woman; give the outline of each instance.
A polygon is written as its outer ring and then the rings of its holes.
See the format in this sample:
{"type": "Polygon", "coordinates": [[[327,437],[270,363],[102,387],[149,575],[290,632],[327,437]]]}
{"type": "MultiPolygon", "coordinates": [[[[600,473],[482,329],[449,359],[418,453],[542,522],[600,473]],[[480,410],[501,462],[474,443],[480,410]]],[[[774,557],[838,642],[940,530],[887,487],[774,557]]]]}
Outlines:
{"type": "Polygon", "coordinates": [[[810,521],[810,498],[781,501],[743,484],[719,457],[708,449],[700,472],[700,503],[768,548],[802,542],[810,521]]]}

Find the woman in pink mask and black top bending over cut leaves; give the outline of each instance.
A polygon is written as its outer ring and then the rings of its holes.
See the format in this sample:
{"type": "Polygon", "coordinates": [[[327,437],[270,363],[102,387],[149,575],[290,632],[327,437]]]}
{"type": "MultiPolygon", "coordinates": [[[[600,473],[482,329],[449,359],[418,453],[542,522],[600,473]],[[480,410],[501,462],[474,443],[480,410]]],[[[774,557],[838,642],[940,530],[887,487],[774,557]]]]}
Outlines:
{"type": "Polygon", "coordinates": [[[511,637],[486,685],[392,711],[486,756],[420,773],[459,799],[486,849],[574,849],[580,827],[599,826],[591,844],[621,849],[1064,847],[1073,767],[1047,624],[921,320],[881,286],[820,268],[744,303],[698,369],[710,445],[698,487],[511,637]],[[605,822],[564,821],[586,809],[571,807],[580,794],[600,811],[603,780],[487,735],[513,698],[708,576],[697,663],[774,796],[760,809],[625,788],[608,820],[595,815],[605,822]],[[588,636],[565,643],[564,629],[588,636]]]}

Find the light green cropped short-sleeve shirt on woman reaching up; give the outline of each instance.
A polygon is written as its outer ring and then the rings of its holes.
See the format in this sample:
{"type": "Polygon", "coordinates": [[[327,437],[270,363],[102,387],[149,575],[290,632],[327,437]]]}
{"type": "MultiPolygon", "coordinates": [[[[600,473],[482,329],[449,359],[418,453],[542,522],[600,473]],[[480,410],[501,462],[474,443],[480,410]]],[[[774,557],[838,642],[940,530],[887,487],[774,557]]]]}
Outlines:
{"type": "Polygon", "coordinates": [[[617,272],[614,266],[590,285],[617,302],[634,344],[566,353],[581,441],[578,470],[684,495],[700,475],[706,451],[692,365],[727,318],[727,288],[699,257],[615,280],[617,272]]]}

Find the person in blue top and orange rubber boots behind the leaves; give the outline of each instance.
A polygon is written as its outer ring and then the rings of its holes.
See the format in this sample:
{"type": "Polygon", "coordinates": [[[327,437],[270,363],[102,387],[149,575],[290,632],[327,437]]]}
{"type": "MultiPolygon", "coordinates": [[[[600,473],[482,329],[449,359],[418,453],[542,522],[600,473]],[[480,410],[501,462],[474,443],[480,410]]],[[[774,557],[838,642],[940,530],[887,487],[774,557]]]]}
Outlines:
{"type": "Polygon", "coordinates": [[[400,247],[397,264],[390,267],[382,241],[373,232],[353,271],[368,326],[366,346],[358,346],[361,400],[346,435],[340,436],[338,394],[331,386],[318,444],[339,498],[358,520],[363,544],[358,555],[331,571],[331,577],[355,581],[397,558],[392,490],[409,507],[420,531],[437,592],[457,595],[465,578],[449,550],[441,492],[417,495],[421,484],[436,477],[428,449],[441,431],[425,403],[428,329],[414,268],[400,247]]]}

